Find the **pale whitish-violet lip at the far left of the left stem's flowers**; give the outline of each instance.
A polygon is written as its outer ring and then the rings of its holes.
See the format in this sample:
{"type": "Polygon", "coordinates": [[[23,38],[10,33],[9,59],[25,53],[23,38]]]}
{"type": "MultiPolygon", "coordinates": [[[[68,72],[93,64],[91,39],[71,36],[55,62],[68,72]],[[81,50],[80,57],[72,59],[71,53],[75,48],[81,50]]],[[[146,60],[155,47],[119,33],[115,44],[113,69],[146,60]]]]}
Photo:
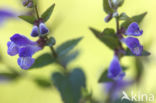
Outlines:
{"type": "Polygon", "coordinates": [[[18,46],[15,43],[9,41],[7,43],[7,46],[8,46],[8,51],[7,52],[8,52],[8,54],[10,56],[14,56],[14,55],[18,54],[19,48],[18,48],[18,46]]]}

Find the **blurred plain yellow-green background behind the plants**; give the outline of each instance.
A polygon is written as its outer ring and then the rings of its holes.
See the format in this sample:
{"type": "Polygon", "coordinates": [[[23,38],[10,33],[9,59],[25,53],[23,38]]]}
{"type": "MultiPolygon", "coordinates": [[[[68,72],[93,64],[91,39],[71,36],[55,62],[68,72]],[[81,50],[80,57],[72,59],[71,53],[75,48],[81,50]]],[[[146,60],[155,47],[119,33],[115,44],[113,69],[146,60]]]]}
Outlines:
{"type": "MultiPolygon", "coordinates": [[[[93,91],[94,98],[103,100],[105,92],[102,84],[98,84],[98,78],[103,70],[109,66],[113,52],[97,40],[88,28],[94,27],[101,31],[105,27],[115,28],[115,20],[109,24],[104,22],[106,14],[103,12],[102,0],[39,0],[41,13],[52,3],[56,3],[56,7],[47,25],[52,28],[52,35],[57,41],[56,46],[66,40],[83,37],[83,40],[76,47],[81,51],[80,55],[69,65],[69,68],[82,67],[87,77],[87,88],[93,91]]],[[[129,90],[152,93],[156,96],[155,6],[155,0],[125,0],[119,12],[126,12],[129,16],[148,12],[141,26],[144,34],[140,39],[142,44],[146,45],[147,50],[151,52],[151,56],[149,62],[144,62],[145,70],[141,85],[133,85],[129,90]]],[[[0,0],[0,7],[13,8],[20,14],[28,10],[18,0],[0,0]]],[[[18,72],[26,73],[14,82],[0,83],[0,103],[62,103],[60,94],[55,87],[45,89],[34,83],[36,77],[50,80],[51,73],[57,71],[56,65],[22,71],[16,62],[18,57],[7,55],[6,44],[9,38],[15,33],[20,33],[34,39],[30,37],[31,30],[32,25],[19,19],[9,20],[0,28],[0,55],[4,60],[3,63],[0,63],[0,72],[8,71],[7,66],[10,66],[18,72]]],[[[34,57],[45,52],[50,52],[49,48],[36,53],[34,57]]],[[[135,76],[134,58],[124,57],[122,64],[129,67],[126,71],[126,78],[133,78],[135,76]]]]}

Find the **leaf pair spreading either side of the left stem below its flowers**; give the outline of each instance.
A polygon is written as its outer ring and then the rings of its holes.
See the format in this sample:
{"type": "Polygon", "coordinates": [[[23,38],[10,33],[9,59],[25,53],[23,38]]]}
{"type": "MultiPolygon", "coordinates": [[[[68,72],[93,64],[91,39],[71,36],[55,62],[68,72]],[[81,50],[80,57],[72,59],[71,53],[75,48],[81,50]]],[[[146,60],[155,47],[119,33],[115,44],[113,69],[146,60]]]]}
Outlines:
{"type": "MultiPolygon", "coordinates": [[[[56,53],[58,55],[58,59],[63,65],[67,65],[71,60],[77,57],[79,54],[78,51],[69,54],[69,52],[81,41],[82,37],[69,40],[56,48],[56,53]]],[[[33,64],[32,68],[41,68],[46,65],[52,64],[56,61],[56,58],[52,56],[50,53],[43,54],[39,56],[35,63],[33,64]]]]}

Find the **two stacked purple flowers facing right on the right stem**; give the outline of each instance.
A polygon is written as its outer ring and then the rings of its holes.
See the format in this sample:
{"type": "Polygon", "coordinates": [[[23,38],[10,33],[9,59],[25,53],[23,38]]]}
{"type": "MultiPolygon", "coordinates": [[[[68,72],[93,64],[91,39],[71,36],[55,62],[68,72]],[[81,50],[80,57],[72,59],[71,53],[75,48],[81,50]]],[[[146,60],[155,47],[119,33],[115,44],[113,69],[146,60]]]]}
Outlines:
{"type": "Polygon", "coordinates": [[[143,30],[140,30],[138,24],[133,22],[129,25],[125,32],[127,38],[122,38],[121,41],[127,45],[131,52],[136,56],[141,56],[143,52],[143,46],[140,44],[137,38],[132,36],[140,36],[143,34],[143,30]]]}

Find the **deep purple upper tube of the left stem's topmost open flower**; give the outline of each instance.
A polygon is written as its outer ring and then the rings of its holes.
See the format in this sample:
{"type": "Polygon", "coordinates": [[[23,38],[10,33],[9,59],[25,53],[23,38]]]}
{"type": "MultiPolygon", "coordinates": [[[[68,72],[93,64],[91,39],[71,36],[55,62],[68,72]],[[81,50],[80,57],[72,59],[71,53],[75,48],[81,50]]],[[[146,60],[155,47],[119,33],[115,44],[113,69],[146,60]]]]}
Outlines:
{"type": "Polygon", "coordinates": [[[16,45],[19,46],[26,46],[26,45],[36,45],[36,42],[33,42],[29,40],[27,37],[20,35],[20,34],[14,34],[10,40],[14,42],[16,45]]]}

